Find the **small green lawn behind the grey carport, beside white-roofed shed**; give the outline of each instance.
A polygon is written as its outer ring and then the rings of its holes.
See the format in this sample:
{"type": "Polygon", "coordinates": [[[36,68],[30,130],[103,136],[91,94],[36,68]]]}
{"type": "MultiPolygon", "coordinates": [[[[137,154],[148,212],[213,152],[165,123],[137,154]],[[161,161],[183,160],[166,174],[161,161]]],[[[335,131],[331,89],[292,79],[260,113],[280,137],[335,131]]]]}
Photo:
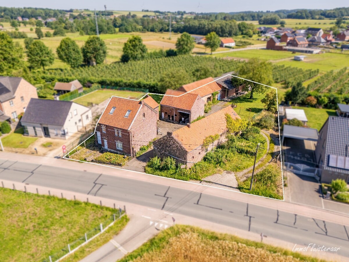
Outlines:
{"type": "Polygon", "coordinates": [[[328,116],[336,116],[336,110],[334,109],[320,109],[314,107],[292,107],[296,109],[303,109],[308,119],[307,125],[310,128],[320,130],[326,122],[328,116]]]}

